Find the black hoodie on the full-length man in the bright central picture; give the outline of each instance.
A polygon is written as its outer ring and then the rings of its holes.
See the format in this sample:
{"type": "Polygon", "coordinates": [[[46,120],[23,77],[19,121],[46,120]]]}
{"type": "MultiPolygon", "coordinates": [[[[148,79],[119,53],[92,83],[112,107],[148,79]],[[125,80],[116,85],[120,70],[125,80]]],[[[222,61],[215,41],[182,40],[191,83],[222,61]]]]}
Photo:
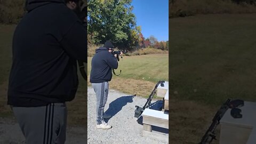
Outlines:
{"type": "Polygon", "coordinates": [[[90,82],[102,83],[111,81],[111,69],[117,69],[118,62],[116,57],[108,51],[107,47],[99,47],[92,58],[91,65],[90,82]]]}

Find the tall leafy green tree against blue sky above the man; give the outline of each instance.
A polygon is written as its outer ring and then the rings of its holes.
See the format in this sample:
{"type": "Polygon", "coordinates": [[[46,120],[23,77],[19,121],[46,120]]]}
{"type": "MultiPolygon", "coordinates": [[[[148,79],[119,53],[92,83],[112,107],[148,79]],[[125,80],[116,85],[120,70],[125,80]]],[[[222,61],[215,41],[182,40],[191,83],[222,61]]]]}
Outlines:
{"type": "Polygon", "coordinates": [[[139,43],[140,27],[136,26],[131,0],[88,1],[88,33],[94,44],[107,40],[119,49],[133,49],[139,43]]]}

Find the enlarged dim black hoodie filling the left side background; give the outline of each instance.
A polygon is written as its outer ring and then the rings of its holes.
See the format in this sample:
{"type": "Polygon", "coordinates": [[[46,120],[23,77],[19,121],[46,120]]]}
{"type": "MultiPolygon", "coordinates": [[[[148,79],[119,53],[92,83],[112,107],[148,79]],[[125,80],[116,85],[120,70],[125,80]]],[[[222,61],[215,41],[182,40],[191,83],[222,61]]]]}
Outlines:
{"type": "Polygon", "coordinates": [[[27,0],[13,35],[8,104],[45,106],[73,100],[76,60],[87,62],[87,33],[62,0],[27,0]]]}

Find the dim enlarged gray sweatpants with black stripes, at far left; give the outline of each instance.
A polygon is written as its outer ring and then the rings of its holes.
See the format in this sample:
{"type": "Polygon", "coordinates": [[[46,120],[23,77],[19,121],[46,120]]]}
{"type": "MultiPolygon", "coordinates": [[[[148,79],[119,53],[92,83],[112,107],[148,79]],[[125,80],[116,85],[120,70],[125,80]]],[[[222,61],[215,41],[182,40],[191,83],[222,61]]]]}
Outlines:
{"type": "Polygon", "coordinates": [[[42,107],[13,107],[13,113],[26,138],[26,144],[65,143],[65,103],[51,103],[42,107]]]}

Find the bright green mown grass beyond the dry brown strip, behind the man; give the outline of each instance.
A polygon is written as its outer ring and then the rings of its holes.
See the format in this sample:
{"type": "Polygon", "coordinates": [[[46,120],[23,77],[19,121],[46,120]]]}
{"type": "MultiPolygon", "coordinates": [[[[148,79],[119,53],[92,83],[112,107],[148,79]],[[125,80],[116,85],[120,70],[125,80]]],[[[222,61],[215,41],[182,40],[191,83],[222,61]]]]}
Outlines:
{"type": "MultiPolygon", "coordinates": [[[[113,79],[117,77],[132,78],[142,81],[158,82],[159,80],[168,81],[168,68],[169,68],[169,55],[168,54],[147,54],[136,56],[124,56],[118,62],[118,69],[115,70],[116,74],[113,79]]],[[[91,71],[92,57],[88,57],[88,74],[91,71]]]]}

